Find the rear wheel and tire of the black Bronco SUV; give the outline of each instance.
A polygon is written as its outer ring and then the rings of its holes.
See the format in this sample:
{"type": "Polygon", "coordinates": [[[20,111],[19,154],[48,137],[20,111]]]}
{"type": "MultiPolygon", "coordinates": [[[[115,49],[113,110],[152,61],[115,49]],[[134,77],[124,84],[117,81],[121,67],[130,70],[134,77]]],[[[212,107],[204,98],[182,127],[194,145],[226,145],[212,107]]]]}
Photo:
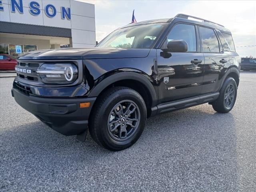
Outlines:
{"type": "Polygon", "coordinates": [[[234,80],[234,78],[228,77],[225,80],[220,90],[220,96],[212,104],[213,109],[219,113],[230,112],[230,110],[232,110],[236,102],[236,95],[237,95],[236,81],[234,80]],[[233,90],[232,93],[231,93],[231,90],[233,90]]]}

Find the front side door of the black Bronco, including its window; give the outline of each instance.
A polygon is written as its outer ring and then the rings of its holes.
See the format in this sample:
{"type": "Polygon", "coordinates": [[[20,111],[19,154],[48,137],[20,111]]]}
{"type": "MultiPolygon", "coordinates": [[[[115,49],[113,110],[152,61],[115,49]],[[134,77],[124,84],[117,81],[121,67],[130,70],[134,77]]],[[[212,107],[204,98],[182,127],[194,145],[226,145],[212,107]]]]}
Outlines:
{"type": "MultiPolygon", "coordinates": [[[[172,27],[166,44],[172,40],[184,40],[187,52],[172,52],[169,57],[157,50],[159,103],[198,96],[203,79],[204,56],[198,52],[196,28],[179,23],[172,27]]],[[[162,48],[165,48],[165,47],[162,48]]]]}

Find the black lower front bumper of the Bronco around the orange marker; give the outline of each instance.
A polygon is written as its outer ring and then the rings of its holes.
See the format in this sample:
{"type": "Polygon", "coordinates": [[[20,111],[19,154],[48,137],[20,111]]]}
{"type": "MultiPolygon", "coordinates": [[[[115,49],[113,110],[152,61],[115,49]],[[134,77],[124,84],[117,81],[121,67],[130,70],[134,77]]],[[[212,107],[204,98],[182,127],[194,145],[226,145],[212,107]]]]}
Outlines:
{"type": "Polygon", "coordinates": [[[96,100],[96,97],[43,98],[24,94],[16,88],[12,88],[12,96],[22,108],[67,136],[87,131],[89,115],[96,100]],[[90,107],[80,108],[82,102],[90,102],[90,107]]]}

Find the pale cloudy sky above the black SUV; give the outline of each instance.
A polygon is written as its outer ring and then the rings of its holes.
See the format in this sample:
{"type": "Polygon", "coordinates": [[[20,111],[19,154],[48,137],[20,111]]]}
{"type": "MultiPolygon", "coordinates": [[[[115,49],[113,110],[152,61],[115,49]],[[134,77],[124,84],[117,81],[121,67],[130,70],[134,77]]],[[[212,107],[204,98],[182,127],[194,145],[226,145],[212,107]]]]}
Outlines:
{"type": "Polygon", "coordinates": [[[178,13],[224,25],[240,56],[256,57],[256,1],[79,0],[95,4],[96,41],[132,20],[172,18],[178,13]],[[254,46],[252,46],[254,45],[254,46]],[[248,47],[241,47],[248,46],[248,47]]]}

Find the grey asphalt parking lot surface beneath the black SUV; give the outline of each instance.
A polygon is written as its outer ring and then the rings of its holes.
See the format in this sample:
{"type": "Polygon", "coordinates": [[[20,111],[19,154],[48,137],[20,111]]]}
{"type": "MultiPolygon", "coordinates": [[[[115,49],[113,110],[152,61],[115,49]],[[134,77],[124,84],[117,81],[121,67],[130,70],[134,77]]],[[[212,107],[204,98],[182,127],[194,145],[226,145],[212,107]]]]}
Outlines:
{"type": "Polygon", "coordinates": [[[241,72],[233,110],[203,104],[147,120],[110,152],[63,136],[18,106],[0,79],[0,191],[256,191],[256,72],[241,72]]]}

